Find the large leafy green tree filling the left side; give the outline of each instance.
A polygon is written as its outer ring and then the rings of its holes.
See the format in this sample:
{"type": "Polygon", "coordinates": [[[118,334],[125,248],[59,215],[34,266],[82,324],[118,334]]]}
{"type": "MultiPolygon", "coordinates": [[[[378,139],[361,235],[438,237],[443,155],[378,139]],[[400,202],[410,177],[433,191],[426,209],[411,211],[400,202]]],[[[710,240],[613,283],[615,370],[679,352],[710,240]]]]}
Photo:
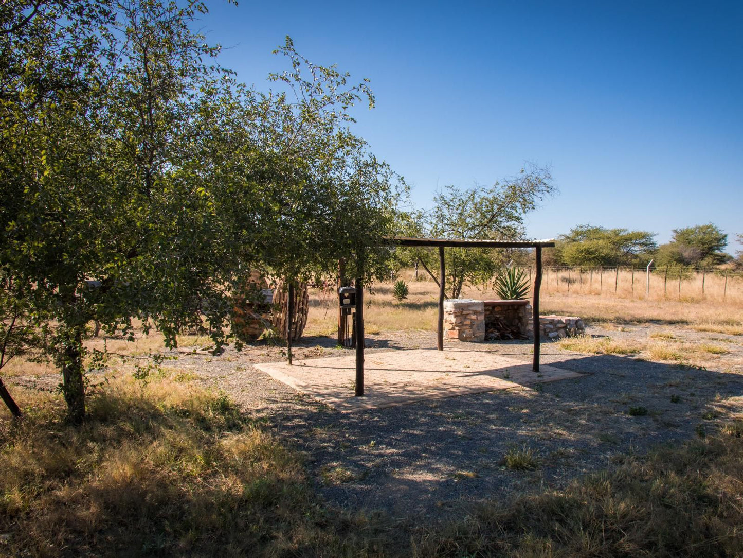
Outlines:
{"type": "Polygon", "coordinates": [[[22,20],[0,11],[16,60],[0,68],[0,266],[47,330],[72,420],[90,321],[133,336],[139,318],[168,346],[196,328],[220,345],[248,269],[296,278],[349,250],[369,260],[363,246],[389,230],[395,175],[343,127],[367,90],[344,90],[334,68],[302,80],[291,41],[277,79],[296,103],[218,67],[191,30],[200,1],[21,7],[22,20]]]}

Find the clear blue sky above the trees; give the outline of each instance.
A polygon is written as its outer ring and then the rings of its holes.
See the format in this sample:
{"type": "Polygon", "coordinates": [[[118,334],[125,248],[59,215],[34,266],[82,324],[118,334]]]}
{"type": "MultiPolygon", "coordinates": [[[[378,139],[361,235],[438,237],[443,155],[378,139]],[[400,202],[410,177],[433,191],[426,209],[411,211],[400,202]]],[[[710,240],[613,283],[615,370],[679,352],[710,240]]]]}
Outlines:
{"type": "Polygon", "coordinates": [[[743,233],[743,1],[221,1],[222,62],[267,89],[290,35],[368,77],[355,132],[429,207],[437,186],[551,164],[560,193],[528,236],[571,226],[743,233]]]}

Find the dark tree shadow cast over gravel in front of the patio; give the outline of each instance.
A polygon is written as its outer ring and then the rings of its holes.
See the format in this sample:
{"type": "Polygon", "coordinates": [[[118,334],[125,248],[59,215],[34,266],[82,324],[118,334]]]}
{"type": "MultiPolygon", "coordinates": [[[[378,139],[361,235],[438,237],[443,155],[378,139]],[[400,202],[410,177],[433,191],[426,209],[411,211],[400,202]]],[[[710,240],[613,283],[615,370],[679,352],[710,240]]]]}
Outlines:
{"type": "MultiPolygon", "coordinates": [[[[528,344],[480,344],[528,360],[528,344]]],[[[334,504],[447,514],[484,498],[564,486],[623,455],[680,443],[740,411],[743,376],[626,356],[545,355],[585,376],[392,408],[340,413],[298,396],[271,422],[304,450],[334,504]],[[534,469],[504,464],[532,452],[534,469]]]]}

